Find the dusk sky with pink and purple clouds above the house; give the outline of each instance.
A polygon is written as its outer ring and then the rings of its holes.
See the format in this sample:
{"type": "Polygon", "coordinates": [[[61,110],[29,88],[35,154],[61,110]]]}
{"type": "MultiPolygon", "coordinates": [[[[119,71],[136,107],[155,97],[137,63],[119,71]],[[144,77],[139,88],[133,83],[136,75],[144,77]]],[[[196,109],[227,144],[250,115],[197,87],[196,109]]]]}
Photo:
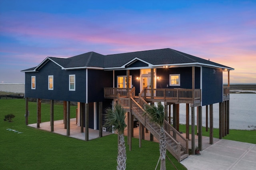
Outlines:
{"type": "MultiPolygon", "coordinates": [[[[46,57],[171,48],[256,83],[256,0],[0,0],[0,83],[46,57]]],[[[224,83],[228,74],[223,73],[224,83]]]]}

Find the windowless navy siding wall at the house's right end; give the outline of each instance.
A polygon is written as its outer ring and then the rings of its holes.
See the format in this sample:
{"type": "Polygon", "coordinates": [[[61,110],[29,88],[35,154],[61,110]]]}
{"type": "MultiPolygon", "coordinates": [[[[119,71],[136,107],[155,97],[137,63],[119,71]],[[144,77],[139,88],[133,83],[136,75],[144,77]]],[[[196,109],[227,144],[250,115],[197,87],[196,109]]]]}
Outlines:
{"type": "Polygon", "coordinates": [[[222,69],[202,67],[202,106],[222,102],[222,69]]]}

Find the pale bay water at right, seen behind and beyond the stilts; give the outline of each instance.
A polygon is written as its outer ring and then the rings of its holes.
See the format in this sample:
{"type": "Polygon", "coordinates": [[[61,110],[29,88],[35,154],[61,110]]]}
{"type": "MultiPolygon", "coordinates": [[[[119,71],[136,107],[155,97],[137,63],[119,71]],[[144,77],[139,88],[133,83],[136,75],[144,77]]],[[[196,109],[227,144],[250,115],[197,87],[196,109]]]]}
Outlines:
{"type": "MultiPolygon", "coordinates": [[[[256,129],[256,94],[230,94],[230,129],[256,129]]],[[[209,107],[208,107],[209,108],[209,107]]],[[[195,108],[195,113],[196,113],[195,108]]],[[[209,114],[209,111],[208,111],[209,114]]],[[[208,115],[209,118],[209,115],[208,115]]],[[[195,124],[197,115],[195,114],[195,124]]],[[[180,104],[180,123],[186,124],[186,104],[180,104]]],[[[191,108],[190,108],[191,125],[191,108]]],[[[202,125],[206,127],[206,107],[202,107],[202,125]]],[[[208,120],[208,127],[210,120],[208,120]]],[[[219,104],[213,105],[213,127],[219,128],[219,104]]]]}

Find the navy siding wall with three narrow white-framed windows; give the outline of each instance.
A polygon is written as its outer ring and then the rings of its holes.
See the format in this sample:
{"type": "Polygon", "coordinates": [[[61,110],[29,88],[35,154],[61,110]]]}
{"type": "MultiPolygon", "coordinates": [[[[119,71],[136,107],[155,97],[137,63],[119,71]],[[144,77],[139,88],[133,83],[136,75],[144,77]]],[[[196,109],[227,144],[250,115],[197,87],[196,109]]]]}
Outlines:
{"type": "Polygon", "coordinates": [[[62,70],[48,61],[38,72],[25,73],[26,97],[63,101],[86,102],[85,70],[62,70]],[[76,75],[76,91],[69,91],[69,75],[76,75]],[[54,90],[48,90],[48,75],[54,77],[54,90]],[[36,76],[36,89],[31,89],[31,76],[36,76]]]}

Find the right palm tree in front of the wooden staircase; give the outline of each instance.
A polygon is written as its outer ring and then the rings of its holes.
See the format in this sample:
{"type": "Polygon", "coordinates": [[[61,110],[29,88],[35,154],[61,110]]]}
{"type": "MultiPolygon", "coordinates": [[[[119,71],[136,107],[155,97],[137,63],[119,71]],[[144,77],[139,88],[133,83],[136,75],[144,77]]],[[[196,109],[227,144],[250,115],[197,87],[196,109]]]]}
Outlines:
{"type": "Polygon", "coordinates": [[[157,107],[155,105],[146,105],[145,109],[146,113],[150,117],[151,122],[155,122],[160,126],[160,138],[159,138],[159,152],[161,165],[160,170],[166,170],[165,165],[165,155],[166,155],[166,134],[164,132],[164,106],[161,102],[157,103],[157,107]]]}

